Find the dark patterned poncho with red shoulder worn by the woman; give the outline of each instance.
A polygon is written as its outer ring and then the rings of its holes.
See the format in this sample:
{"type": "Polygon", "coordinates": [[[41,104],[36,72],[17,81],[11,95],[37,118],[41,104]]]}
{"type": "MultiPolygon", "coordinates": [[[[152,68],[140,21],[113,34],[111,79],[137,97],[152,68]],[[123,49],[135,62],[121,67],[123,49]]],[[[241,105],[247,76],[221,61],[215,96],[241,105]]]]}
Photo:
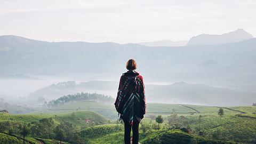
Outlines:
{"type": "Polygon", "coordinates": [[[137,71],[129,70],[121,76],[115,107],[120,119],[131,125],[143,118],[146,113],[145,86],[137,71]]]}

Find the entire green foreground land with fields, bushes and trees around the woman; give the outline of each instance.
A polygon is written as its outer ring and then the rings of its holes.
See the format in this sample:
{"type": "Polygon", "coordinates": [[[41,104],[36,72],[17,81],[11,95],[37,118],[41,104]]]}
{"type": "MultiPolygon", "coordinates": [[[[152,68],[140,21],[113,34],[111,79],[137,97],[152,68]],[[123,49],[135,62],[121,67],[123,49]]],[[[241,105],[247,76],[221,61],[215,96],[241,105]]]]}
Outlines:
{"type": "MultiPolygon", "coordinates": [[[[139,127],[140,142],[254,143],[255,110],[254,106],[148,103],[147,114],[139,127]],[[159,121],[156,122],[156,119],[159,121]]],[[[29,143],[123,143],[123,125],[114,115],[117,115],[114,105],[92,101],[71,102],[38,111],[37,114],[0,113],[0,130],[2,141],[18,143],[23,142],[21,130],[24,125],[29,127],[25,137],[25,142],[29,143]],[[104,116],[93,111],[99,111],[104,116]]]]}

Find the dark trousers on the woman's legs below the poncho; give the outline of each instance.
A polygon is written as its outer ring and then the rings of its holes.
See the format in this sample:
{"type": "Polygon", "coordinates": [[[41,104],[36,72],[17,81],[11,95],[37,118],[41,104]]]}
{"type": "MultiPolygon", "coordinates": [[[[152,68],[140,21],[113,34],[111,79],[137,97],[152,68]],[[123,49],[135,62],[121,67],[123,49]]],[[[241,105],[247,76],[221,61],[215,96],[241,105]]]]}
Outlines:
{"type": "Polygon", "coordinates": [[[139,122],[133,123],[131,126],[129,122],[124,121],[124,143],[131,143],[131,129],[132,129],[132,144],[138,144],[139,142],[139,122]]]}

